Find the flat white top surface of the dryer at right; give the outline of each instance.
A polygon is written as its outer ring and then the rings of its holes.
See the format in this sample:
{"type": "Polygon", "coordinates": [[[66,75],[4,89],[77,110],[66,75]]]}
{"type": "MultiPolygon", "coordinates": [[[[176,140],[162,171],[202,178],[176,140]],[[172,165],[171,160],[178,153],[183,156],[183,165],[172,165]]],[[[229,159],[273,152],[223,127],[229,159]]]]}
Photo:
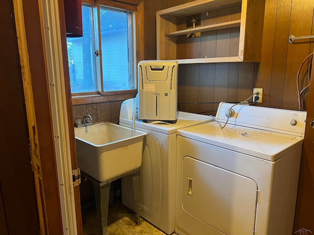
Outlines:
{"type": "Polygon", "coordinates": [[[178,135],[268,161],[276,161],[303,142],[302,137],[233,124],[221,129],[216,122],[178,130],[178,135]]]}

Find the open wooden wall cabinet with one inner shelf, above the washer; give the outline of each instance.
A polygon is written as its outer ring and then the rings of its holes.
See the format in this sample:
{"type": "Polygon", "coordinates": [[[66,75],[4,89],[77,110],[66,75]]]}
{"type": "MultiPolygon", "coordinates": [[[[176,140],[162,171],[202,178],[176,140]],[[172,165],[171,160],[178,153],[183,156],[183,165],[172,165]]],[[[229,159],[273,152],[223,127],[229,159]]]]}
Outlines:
{"type": "Polygon", "coordinates": [[[264,7],[265,0],[195,0],[157,11],[157,60],[259,62],[264,7]],[[187,28],[194,15],[200,25],[187,28]]]}

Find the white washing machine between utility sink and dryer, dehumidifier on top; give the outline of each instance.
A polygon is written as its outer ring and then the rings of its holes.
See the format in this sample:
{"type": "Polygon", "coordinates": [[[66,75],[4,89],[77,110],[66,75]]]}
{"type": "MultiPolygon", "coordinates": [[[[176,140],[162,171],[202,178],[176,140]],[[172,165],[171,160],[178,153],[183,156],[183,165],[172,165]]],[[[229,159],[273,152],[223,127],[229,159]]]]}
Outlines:
{"type": "MultiPolygon", "coordinates": [[[[132,128],[133,99],[121,106],[120,125],[132,128]]],[[[140,167],[140,214],[167,234],[175,231],[177,130],[211,121],[205,115],[178,112],[174,124],[136,119],[136,130],[145,130],[140,167]]],[[[122,178],[122,203],[134,211],[132,181],[122,178]]]]}

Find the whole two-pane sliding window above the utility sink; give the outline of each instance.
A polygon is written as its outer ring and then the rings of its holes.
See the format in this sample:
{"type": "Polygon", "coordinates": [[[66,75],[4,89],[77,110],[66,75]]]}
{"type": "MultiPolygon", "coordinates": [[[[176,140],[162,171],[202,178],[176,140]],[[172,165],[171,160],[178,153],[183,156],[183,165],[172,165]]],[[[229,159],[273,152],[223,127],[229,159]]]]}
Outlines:
{"type": "Polygon", "coordinates": [[[118,4],[121,8],[116,5],[82,4],[83,37],[67,38],[73,96],[136,90],[137,8],[124,3],[118,4]],[[128,5],[127,9],[124,5],[128,5]]]}

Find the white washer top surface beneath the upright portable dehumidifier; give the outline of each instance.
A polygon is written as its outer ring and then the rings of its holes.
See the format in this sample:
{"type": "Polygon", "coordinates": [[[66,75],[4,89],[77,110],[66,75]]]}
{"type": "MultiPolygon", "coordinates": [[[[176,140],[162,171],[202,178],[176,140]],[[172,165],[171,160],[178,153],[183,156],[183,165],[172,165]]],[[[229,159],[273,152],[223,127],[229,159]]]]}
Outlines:
{"type": "MultiPolygon", "coordinates": [[[[175,134],[178,129],[212,121],[212,118],[206,115],[178,112],[176,123],[169,124],[161,121],[143,122],[136,119],[136,127],[161,132],[167,135],[175,134]]],[[[132,125],[133,121],[120,118],[120,122],[132,125]]]]}

